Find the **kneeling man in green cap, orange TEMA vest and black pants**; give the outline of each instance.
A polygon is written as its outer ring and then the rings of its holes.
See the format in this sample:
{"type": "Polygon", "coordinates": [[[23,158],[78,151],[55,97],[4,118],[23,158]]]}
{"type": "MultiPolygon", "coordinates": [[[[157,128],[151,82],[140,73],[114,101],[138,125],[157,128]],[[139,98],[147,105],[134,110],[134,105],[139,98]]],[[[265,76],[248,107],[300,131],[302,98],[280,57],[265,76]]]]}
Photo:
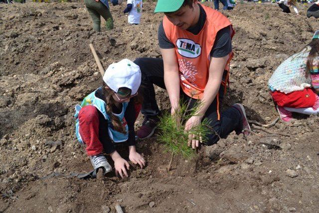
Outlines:
{"type": "MultiPolygon", "coordinates": [[[[142,71],[142,113],[145,116],[138,137],[152,136],[157,126],[160,110],[153,84],[167,90],[172,115],[179,110],[180,99],[191,99],[190,107],[196,100],[202,101],[199,115],[186,122],[185,130],[208,118],[214,131],[208,136],[207,145],[226,138],[232,131],[240,133],[249,129],[241,104],[222,113],[219,110],[233,57],[231,39],[234,31],[230,21],[197,0],[159,0],[155,12],[165,14],[159,27],[162,59],[135,60],[142,71]]],[[[191,145],[198,147],[198,141],[191,140],[191,145]]]]}

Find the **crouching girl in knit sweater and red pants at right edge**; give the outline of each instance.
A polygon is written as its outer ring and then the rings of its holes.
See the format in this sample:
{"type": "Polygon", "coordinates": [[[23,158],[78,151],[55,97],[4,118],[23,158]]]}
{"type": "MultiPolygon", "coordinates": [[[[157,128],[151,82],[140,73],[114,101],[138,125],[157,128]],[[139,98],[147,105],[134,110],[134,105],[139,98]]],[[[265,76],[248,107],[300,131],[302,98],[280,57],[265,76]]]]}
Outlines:
{"type": "Polygon", "coordinates": [[[292,119],[292,112],[319,112],[319,30],[299,53],[287,58],[268,82],[271,96],[283,121],[292,119]]]}

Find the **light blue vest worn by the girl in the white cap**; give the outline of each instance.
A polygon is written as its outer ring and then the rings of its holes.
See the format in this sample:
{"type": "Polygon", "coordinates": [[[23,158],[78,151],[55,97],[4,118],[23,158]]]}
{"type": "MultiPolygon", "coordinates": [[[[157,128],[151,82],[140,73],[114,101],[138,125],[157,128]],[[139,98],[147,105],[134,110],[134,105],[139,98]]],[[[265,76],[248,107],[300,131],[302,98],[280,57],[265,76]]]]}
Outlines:
{"type": "Polygon", "coordinates": [[[113,113],[115,116],[119,117],[120,121],[122,122],[122,125],[125,125],[125,130],[126,130],[126,134],[123,134],[123,133],[120,133],[120,132],[117,132],[113,129],[113,125],[112,125],[112,122],[111,122],[111,118],[110,116],[106,113],[106,109],[105,109],[105,105],[106,103],[96,97],[96,92],[98,90],[101,90],[102,87],[98,88],[97,90],[95,90],[94,92],[92,92],[91,94],[89,94],[88,96],[86,96],[81,105],[76,105],[75,106],[75,119],[76,119],[76,122],[75,122],[75,134],[76,134],[76,137],[78,139],[78,141],[81,143],[81,144],[84,144],[83,143],[83,140],[80,136],[80,133],[79,133],[79,112],[80,110],[82,109],[82,107],[84,106],[87,106],[87,105],[93,105],[95,106],[104,116],[104,118],[108,121],[108,132],[109,132],[109,136],[111,138],[112,141],[116,142],[116,143],[119,143],[119,142],[124,142],[124,141],[127,141],[128,138],[129,138],[129,127],[128,127],[128,124],[124,118],[124,114],[125,114],[125,110],[128,106],[129,103],[127,102],[124,102],[122,105],[122,112],[121,114],[115,114],[113,113]]]}

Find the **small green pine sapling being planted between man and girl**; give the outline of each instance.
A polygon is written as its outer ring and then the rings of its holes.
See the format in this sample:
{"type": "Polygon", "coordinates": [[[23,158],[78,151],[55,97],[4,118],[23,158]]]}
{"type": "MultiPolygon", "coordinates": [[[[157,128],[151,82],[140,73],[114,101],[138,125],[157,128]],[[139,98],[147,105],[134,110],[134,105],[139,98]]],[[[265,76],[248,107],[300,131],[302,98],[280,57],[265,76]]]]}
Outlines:
{"type": "Polygon", "coordinates": [[[175,113],[165,113],[160,118],[158,128],[160,129],[159,141],[163,143],[165,151],[171,153],[171,159],[167,167],[167,171],[171,168],[171,163],[175,155],[180,155],[185,159],[190,159],[194,156],[195,150],[187,146],[188,138],[194,135],[193,140],[199,140],[203,143],[207,140],[207,134],[211,131],[209,129],[209,121],[207,118],[203,119],[200,125],[192,127],[185,131],[185,123],[192,116],[200,116],[197,112],[202,106],[202,102],[196,101],[191,107],[191,101],[181,102],[179,110],[175,113]]]}

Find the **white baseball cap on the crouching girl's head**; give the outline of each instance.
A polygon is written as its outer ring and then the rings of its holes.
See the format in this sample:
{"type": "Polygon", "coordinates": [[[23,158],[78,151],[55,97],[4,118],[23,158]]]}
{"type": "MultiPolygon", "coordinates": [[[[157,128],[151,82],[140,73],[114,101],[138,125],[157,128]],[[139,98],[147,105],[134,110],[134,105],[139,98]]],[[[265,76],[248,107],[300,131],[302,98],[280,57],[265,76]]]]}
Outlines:
{"type": "Polygon", "coordinates": [[[138,92],[141,85],[141,69],[133,61],[123,59],[117,63],[111,64],[104,73],[103,81],[114,91],[126,87],[132,90],[134,95],[138,92]]]}

